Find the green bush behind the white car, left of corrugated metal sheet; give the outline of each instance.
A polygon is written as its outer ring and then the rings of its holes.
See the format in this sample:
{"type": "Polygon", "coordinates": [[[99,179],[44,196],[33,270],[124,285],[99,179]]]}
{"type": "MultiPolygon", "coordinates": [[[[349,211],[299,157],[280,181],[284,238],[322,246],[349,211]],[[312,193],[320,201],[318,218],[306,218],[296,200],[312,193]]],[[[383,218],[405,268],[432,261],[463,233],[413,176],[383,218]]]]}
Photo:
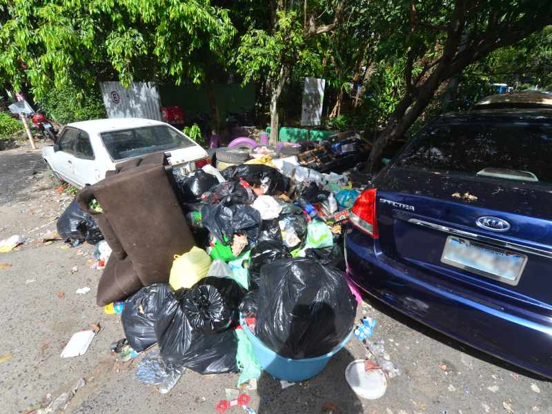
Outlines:
{"type": "Polygon", "coordinates": [[[47,117],[60,124],[107,117],[99,90],[95,89],[79,92],[70,86],[52,88],[39,106],[47,117]]]}

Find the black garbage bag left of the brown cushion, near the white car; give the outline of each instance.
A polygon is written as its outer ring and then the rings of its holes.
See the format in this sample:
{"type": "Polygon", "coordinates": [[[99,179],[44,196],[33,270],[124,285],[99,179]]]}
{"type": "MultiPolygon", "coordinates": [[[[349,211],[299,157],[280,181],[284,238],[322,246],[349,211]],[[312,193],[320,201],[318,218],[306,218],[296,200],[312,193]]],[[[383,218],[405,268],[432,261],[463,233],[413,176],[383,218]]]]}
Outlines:
{"type": "Polygon", "coordinates": [[[77,204],[77,199],[71,201],[56,223],[57,233],[63,240],[71,242],[88,242],[97,244],[103,240],[96,221],[88,213],[83,212],[77,204]]]}

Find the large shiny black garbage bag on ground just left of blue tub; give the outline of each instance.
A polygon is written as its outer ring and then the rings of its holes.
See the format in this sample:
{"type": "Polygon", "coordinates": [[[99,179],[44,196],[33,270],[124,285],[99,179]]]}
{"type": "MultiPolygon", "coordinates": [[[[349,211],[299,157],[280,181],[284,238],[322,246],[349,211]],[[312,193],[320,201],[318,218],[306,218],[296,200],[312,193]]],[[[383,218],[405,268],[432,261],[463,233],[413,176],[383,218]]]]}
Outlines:
{"type": "Polygon", "coordinates": [[[236,372],[237,338],[232,327],[243,297],[237,282],[221,277],[206,277],[188,290],[177,290],[155,323],[166,364],[202,374],[236,372]]]}

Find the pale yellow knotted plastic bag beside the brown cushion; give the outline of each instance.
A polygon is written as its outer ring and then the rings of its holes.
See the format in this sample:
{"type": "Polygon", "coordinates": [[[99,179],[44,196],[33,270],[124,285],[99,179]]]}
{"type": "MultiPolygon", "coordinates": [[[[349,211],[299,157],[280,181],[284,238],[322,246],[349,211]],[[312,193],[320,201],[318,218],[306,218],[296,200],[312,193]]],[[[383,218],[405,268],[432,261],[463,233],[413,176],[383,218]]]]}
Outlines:
{"type": "Polygon", "coordinates": [[[175,290],[189,289],[200,279],[206,277],[210,265],[211,258],[205,253],[205,250],[194,246],[184,255],[175,255],[175,261],[172,262],[172,268],[170,268],[168,284],[175,290]]]}

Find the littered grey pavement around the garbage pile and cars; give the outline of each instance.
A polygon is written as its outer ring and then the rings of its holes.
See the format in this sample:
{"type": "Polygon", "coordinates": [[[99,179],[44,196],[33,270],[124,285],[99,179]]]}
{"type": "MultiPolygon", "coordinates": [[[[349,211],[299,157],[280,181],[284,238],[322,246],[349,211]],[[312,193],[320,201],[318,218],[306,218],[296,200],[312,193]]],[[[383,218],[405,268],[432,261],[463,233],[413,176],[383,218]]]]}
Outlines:
{"type": "MultiPolygon", "coordinates": [[[[124,333],[119,316],[96,306],[101,271],[88,262],[93,246],[41,242],[55,230],[71,198],[52,188],[40,154],[27,146],[0,151],[0,240],[14,234],[28,238],[11,252],[0,253],[0,264],[11,265],[0,266],[0,412],[47,406],[83,378],[85,385],[68,402],[67,413],[217,413],[217,402],[225,398],[225,388],[235,388],[237,375],[186,371],[170,393],[161,395],[136,380],[141,357],[115,362],[110,344],[124,333]],[[89,293],[75,293],[85,286],[89,293]],[[86,354],[61,359],[71,335],[91,322],[99,322],[101,331],[86,354]]],[[[388,380],[383,397],[362,400],[348,387],[347,364],[365,354],[353,338],[308,382],[282,390],[279,382],[262,375],[257,391],[249,392],[250,407],[262,414],[552,413],[549,381],[365,300],[357,316],[377,319],[373,339],[385,341],[391,361],[402,372],[388,380]]],[[[230,408],[228,413],[239,411],[230,408]]]]}

